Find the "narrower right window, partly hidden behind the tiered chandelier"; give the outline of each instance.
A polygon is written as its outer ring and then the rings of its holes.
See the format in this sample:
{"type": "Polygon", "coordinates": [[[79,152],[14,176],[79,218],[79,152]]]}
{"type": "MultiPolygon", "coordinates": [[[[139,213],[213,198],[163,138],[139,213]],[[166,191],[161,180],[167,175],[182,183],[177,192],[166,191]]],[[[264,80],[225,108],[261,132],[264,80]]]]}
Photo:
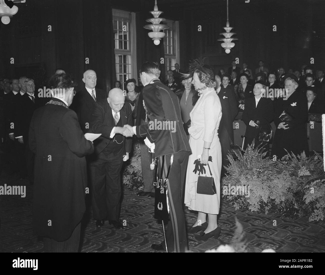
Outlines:
{"type": "Polygon", "coordinates": [[[179,63],[179,41],[178,41],[178,21],[166,20],[165,24],[169,29],[163,30],[164,52],[165,52],[165,72],[167,77],[168,70],[174,70],[175,64],[179,63]]]}

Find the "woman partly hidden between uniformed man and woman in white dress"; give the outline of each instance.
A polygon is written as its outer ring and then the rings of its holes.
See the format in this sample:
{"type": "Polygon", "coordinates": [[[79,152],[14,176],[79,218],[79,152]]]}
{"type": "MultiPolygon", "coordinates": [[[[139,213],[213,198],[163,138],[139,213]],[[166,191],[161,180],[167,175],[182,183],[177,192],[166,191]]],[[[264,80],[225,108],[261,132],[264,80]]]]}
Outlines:
{"type": "Polygon", "coordinates": [[[199,99],[198,92],[193,89],[191,79],[184,79],[182,81],[185,89],[177,90],[175,93],[179,99],[179,105],[181,107],[181,115],[183,120],[183,127],[185,133],[189,139],[188,127],[191,125],[191,119],[189,113],[192,111],[195,103],[199,99]]]}

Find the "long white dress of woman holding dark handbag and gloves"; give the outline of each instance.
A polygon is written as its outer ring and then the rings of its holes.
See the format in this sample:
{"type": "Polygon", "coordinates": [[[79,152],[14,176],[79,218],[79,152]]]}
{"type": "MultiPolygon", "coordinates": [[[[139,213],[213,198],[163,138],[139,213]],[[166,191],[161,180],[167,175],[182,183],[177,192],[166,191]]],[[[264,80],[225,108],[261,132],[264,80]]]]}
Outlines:
{"type": "MultiPolygon", "coordinates": [[[[189,145],[192,154],[188,159],[185,200],[184,203],[190,210],[200,211],[208,214],[218,214],[220,209],[220,173],[221,173],[221,145],[218,137],[218,128],[221,120],[221,103],[215,90],[209,90],[201,94],[198,102],[190,112],[191,126],[188,129],[190,134],[189,145]],[[204,141],[211,142],[209,156],[210,169],[214,177],[214,184],[217,194],[197,194],[198,172],[195,174],[194,161],[202,154],[204,141]]],[[[209,168],[204,166],[206,175],[210,176],[209,168]]]]}

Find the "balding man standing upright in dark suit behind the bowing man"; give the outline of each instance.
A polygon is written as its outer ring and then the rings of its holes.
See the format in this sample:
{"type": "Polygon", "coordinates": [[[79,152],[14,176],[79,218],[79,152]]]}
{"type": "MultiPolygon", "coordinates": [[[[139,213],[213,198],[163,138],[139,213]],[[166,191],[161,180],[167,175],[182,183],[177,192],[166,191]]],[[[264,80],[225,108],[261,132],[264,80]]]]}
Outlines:
{"type": "Polygon", "coordinates": [[[97,75],[93,70],[86,70],[82,81],[85,87],[75,95],[71,109],[77,113],[80,127],[84,133],[91,132],[92,114],[95,108],[95,102],[105,99],[103,90],[96,87],[97,75]]]}

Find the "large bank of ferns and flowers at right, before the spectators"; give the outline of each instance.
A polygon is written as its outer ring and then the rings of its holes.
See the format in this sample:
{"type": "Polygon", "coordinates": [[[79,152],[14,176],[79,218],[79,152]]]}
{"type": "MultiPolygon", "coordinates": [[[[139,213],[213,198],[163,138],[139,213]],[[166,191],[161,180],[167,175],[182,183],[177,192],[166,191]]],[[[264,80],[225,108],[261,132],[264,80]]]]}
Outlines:
{"type": "Polygon", "coordinates": [[[235,209],[307,216],[309,221],[324,219],[325,173],[318,153],[310,158],[305,152],[300,156],[288,153],[276,161],[264,158],[266,153],[260,146],[254,148],[253,141],[243,153],[235,154],[237,160],[228,154],[228,175],[222,180],[223,198],[235,209]]]}

